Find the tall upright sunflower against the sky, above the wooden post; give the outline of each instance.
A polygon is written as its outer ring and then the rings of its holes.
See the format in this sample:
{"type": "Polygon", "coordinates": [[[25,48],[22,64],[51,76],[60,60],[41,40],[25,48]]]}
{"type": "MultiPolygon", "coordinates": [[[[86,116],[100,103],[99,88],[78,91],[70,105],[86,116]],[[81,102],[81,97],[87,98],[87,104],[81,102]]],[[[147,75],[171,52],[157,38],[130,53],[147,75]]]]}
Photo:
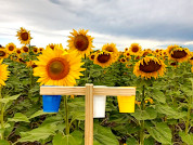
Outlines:
{"type": "Polygon", "coordinates": [[[93,38],[88,36],[87,32],[88,30],[85,29],[80,29],[79,31],[73,29],[73,32],[70,32],[73,36],[69,36],[69,40],[67,40],[69,51],[77,51],[82,56],[90,54],[91,48],[94,48],[92,45],[93,38]]]}

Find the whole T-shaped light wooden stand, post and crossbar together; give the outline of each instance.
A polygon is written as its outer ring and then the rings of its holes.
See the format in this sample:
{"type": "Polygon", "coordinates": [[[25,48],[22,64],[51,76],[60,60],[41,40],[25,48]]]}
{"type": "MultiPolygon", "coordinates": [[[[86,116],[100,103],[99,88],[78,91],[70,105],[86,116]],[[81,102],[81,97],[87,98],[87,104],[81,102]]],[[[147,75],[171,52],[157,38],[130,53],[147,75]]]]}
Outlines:
{"type": "Polygon", "coordinates": [[[93,95],[132,96],[136,87],[40,87],[41,95],[86,95],[85,145],[93,145],[93,95]]]}

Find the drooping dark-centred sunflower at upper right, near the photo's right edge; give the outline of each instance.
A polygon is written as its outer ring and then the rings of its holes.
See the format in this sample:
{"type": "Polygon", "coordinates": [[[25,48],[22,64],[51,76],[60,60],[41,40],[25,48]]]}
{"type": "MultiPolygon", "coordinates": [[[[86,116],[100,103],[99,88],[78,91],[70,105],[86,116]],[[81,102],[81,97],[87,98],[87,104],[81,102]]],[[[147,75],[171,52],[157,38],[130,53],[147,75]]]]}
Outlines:
{"type": "Polygon", "coordinates": [[[175,48],[170,51],[168,60],[177,61],[179,63],[189,61],[190,51],[186,48],[175,48]]]}

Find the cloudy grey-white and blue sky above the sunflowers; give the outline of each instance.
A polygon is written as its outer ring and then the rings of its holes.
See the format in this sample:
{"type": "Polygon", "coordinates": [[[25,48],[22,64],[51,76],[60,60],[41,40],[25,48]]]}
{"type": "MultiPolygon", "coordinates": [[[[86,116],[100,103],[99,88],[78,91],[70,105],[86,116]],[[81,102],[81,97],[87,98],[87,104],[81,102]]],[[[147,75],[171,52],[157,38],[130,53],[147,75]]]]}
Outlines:
{"type": "Polygon", "coordinates": [[[30,30],[33,45],[67,45],[72,29],[89,29],[97,49],[114,42],[124,50],[169,44],[193,51],[193,0],[0,0],[0,44],[14,42],[16,30],[30,30]]]}

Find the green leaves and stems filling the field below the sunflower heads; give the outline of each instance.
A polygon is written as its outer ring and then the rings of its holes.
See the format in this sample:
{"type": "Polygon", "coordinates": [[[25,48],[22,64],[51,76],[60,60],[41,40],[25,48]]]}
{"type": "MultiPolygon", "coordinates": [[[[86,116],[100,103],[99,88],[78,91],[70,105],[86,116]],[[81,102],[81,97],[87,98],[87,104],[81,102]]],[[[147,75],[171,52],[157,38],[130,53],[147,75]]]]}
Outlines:
{"type": "MultiPolygon", "coordinates": [[[[36,55],[29,54],[24,54],[26,61],[36,60],[36,55]]],[[[179,63],[176,68],[165,61],[164,77],[144,80],[133,75],[133,65],[138,62],[134,57],[129,61],[131,68],[119,62],[102,68],[89,58],[82,61],[87,70],[77,85],[137,87],[138,104],[132,114],[118,111],[116,96],[106,98],[106,117],[94,119],[94,145],[139,145],[141,139],[144,145],[193,143],[193,74],[189,63],[179,63]],[[181,140],[176,139],[178,135],[181,140]]],[[[59,113],[43,113],[38,78],[33,76],[33,69],[9,58],[4,63],[9,64],[11,75],[1,90],[0,145],[18,142],[83,145],[85,97],[68,97],[66,107],[63,96],[59,113]]]]}

